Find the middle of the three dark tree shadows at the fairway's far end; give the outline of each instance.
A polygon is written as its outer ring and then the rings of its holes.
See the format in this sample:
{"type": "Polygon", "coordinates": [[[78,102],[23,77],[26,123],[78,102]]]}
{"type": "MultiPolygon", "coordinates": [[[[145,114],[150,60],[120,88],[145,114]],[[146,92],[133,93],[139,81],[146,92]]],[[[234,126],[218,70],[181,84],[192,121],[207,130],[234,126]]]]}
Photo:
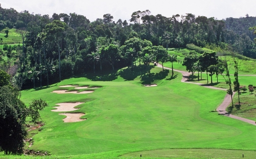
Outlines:
{"type": "MultiPolygon", "coordinates": [[[[151,66],[153,68],[154,66],[151,66]]],[[[145,67],[144,65],[138,65],[138,66],[133,66],[133,68],[129,67],[126,69],[122,69],[119,72],[119,75],[125,79],[125,81],[132,81],[141,74],[146,74],[148,72],[148,68],[145,67]]]]}

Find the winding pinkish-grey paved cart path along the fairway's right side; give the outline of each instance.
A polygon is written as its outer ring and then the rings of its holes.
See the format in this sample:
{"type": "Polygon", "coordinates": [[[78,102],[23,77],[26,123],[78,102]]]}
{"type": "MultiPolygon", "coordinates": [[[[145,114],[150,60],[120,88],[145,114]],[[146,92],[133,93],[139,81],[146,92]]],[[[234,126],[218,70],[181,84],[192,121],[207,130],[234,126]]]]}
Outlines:
{"type": "MultiPolygon", "coordinates": [[[[158,64],[157,65],[158,67],[162,67],[161,64],[158,64]]],[[[171,68],[168,68],[168,67],[163,67],[164,69],[169,69],[171,70],[171,68]]],[[[226,91],[226,89],[223,89],[223,88],[217,88],[217,87],[213,87],[213,86],[206,86],[205,84],[201,84],[201,83],[194,83],[194,82],[189,82],[189,76],[190,76],[190,73],[187,72],[187,71],[181,71],[181,70],[177,70],[177,69],[173,69],[174,71],[177,71],[177,72],[180,72],[182,73],[182,80],[181,82],[185,82],[185,83],[192,83],[192,84],[197,84],[199,86],[202,86],[202,87],[206,87],[206,88],[210,88],[210,89],[215,89],[215,90],[223,90],[223,91],[226,91]]],[[[234,94],[233,94],[234,96],[234,94]]],[[[246,123],[249,123],[249,124],[252,124],[252,125],[255,125],[256,126],[256,123],[255,121],[253,120],[249,120],[249,119],[245,119],[245,118],[241,118],[241,117],[238,117],[238,116],[235,116],[235,115],[232,115],[232,114],[228,114],[226,112],[226,107],[228,107],[228,105],[231,103],[231,96],[230,95],[225,95],[225,98],[224,98],[224,101],[222,102],[222,104],[216,109],[216,111],[221,114],[221,115],[224,115],[226,117],[229,117],[229,118],[233,118],[233,119],[238,119],[240,121],[243,121],[243,122],[246,122],[246,123]]]]}

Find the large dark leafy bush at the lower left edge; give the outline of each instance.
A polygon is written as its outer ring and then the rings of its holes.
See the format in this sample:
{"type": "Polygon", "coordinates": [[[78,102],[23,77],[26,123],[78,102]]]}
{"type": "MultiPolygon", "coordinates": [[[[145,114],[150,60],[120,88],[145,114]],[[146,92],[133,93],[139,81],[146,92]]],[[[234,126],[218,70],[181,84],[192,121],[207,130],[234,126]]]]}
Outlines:
{"type": "Polygon", "coordinates": [[[9,86],[0,87],[0,151],[5,155],[23,153],[27,136],[26,110],[16,90],[9,86]]]}

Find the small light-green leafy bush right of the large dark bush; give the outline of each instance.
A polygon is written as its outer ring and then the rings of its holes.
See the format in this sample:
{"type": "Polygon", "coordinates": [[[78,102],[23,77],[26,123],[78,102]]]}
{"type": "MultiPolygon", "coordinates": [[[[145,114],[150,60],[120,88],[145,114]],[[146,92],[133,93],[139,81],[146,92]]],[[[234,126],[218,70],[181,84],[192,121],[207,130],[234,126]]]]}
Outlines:
{"type": "Polygon", "coordinates": [[[32,100],[28,107],[28,116],[31,117],[33,123],[39,122],[39,119],[41,119],[39,111],[43,110],[47,106],[49,105],[42,99],[32,100]]]}

